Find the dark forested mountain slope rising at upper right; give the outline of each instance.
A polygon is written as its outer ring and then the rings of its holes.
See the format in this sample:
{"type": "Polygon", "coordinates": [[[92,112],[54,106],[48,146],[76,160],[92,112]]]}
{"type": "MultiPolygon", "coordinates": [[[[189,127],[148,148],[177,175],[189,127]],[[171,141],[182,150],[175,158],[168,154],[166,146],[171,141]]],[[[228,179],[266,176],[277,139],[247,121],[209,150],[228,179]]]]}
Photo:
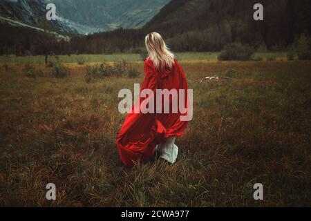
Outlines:
{"type": "Polygon", "coordinates": [[[232,41],[287,46],[311,31],[309,0],[261,0],[264,20],[254,21],[256,0],[172,0],[144,27],[162,32],[176,50],[220,50],[232,41]],[[188,44],[187,42],[192,42],[188,44]]]}

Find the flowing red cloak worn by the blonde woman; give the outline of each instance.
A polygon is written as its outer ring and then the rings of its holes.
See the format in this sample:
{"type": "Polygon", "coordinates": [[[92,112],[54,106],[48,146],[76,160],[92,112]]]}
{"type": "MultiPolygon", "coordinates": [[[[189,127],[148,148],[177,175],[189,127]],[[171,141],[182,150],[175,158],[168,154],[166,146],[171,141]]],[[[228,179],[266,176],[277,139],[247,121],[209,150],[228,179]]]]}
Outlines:
{"type": "MultiPolygon", "coordinates": [[[[184,71],[175,59],[172,68],[165,68],[162,71],[156,70],[150,59],[144,62],[145,78],[141,90],[153,90],[156,107],[157,89],[185,89],[185,107],[187,107],[187,79],[184,71]]],[[[148,98],[148,96],[146,96],[148,98]]],[[[140,97],[140,106],[147,99],[140,97]]],[[[169,105],[171,106],[170,96],[169,105]]],[[[162,102],[163,104],[163,102],[162,102]]],[[[135,104],[136,105],[136,104],[135,104]]],[[[135,163],[151,160],[157,144],[160,144],[168,137],[180,137],[187,128],[188,122],[180,121],[180,116],[187,113],[129,113],[124,124],[117,135],[117,148],[120,158],[125,166],[133,166],[135,163]]],[[[163,107],[164,105],[162,105],[163,107]]]]}

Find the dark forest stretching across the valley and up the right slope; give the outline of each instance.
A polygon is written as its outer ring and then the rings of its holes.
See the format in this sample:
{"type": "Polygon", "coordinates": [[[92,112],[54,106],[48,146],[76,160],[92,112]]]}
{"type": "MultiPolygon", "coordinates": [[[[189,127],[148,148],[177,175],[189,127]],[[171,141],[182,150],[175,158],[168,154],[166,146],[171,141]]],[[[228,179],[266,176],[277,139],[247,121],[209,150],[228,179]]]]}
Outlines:
{"type": "Polygon", "coordinates": [[[146,26],[138,30],[118,29],[59,41],[50,35],[1,24],[0,52],[42,55],[46,51],[109,54],[138,51],[144,36],[160,32],[174,51],[219,51],[226,44],[285,48],[301,33],[310,35],[311,1],[262,0],[264,21],[254,21],[254,0],[173,0],[146,26]],[[21,34],[22,33],[22,34],[21,34]],[[48,46],[38,44],[44,39],[48,46]]]}

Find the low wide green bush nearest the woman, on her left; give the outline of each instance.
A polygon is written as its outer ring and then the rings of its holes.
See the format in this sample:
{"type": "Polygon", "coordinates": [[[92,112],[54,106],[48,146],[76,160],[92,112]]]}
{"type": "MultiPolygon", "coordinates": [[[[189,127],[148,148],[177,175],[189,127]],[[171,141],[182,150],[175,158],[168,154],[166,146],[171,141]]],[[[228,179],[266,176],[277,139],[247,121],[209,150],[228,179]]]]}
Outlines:
{"type": "Polygon", "coordinates": [[[104,77],[138,77],[140,73],[132,68],[126,61],[116,62],[114,66],[110,66],[103,62],[94,66],[86,66],[85,80],[91,83],[97,79],[104,77]]]}

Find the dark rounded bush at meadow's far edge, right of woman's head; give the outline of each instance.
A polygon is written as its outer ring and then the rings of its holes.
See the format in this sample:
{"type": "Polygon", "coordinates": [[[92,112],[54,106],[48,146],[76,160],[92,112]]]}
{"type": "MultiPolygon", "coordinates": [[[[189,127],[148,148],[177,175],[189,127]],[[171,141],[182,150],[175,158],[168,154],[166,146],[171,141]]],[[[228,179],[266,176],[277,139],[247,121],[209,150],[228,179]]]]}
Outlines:
{"type": "Polygon", "coordinates": [[[218,60],[220,61],[247,61],[254,56],[254,48],[249,45],[243,45],[241,43],[227,44],[220,55],[218,60]]]}

